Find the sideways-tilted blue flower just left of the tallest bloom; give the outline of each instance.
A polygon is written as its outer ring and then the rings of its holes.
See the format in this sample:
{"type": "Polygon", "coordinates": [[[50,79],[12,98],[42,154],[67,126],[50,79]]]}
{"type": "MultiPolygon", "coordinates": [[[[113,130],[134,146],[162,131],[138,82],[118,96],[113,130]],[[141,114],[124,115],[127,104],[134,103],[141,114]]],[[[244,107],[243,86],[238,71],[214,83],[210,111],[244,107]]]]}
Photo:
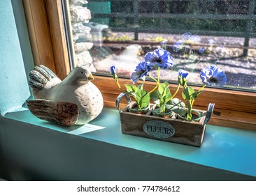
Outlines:
{"type": "Polygon", "coordinates": [[[135,72],[131,73],[131,81],[135,84],[138,79],[143,79],[145,81],[145,76],[148,75],[148,71],[150,71],[150,65],[148,62],[141,62],[135,68],[135,72]]]}

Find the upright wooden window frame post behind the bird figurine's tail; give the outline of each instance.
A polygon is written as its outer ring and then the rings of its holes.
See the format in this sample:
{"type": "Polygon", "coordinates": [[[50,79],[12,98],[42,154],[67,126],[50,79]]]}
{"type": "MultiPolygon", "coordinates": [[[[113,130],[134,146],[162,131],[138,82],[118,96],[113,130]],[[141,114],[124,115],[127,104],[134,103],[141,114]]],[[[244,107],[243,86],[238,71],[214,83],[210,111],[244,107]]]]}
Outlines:
{"type": "Polygon", "coordinates": [[[35,65],[46,65],[64,79],[70,72],[61,1],[23,0],[35,65]]]}

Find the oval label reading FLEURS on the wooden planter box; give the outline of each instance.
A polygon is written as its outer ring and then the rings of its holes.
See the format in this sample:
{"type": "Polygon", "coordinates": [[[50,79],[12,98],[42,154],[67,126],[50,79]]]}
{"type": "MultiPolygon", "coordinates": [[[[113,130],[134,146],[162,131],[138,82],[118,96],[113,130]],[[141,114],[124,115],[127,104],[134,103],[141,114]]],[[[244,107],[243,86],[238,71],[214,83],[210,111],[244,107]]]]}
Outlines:
{"type": "Polygon", "coordinates": [[[145,122],[143,130],[146,134],[158,139],[169,138],[175,134],[174,127],[161,120],[149,120],[145,122]]]}

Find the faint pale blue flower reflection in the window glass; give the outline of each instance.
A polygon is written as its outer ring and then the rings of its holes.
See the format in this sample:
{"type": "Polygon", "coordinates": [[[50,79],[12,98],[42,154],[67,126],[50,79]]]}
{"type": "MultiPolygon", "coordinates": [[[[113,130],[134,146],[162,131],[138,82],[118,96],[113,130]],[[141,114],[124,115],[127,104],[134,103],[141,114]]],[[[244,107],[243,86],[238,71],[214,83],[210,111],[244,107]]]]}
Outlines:
{"type": "Polygon", "coordinates": [[[178,52],[184,47],[189,47],[193,42],[199,42],[199,36],[192,36],[191,33],[184,33],[180,40],[174,43],[173,50],[174,52],[178,52]]]}

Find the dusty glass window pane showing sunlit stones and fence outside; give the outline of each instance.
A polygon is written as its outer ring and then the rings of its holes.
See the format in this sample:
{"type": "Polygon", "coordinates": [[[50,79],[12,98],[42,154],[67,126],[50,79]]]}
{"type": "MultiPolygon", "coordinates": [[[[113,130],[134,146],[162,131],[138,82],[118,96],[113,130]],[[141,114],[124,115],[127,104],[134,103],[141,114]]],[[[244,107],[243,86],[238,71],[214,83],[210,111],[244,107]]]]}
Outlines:
{"type": "MultiPolygon", "coordinates": [[[[256,90],[256,1],[70,0],[75,65],[130,77],[136,65],[165,41],[174,66],[161,79],[176,82],[178,70],[201,84],[200,70],[216,64],[227,88],[256,90]],[[189,34],[187,40],[184,34],[189,34]],[[178,49],[177,49],[178,45],[178,49]]],[[[157,70],[150,72],[157,76],[157,70]]]]}

